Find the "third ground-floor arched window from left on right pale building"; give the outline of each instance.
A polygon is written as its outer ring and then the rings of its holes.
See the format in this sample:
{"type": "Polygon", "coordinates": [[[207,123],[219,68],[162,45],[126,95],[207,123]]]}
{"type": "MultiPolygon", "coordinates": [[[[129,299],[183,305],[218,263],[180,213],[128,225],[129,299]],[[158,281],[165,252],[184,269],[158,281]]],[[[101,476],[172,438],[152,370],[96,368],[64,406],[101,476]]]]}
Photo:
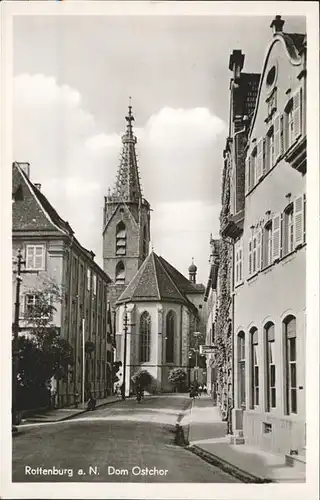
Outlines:
{"type": "Polygon", "coordinates": [[[266,411],[276,407],[276,360],[275,360],[275,336],[274,324],[267,323],[264,327],[265,333],[265,357],[266,357],[266,411]]]}

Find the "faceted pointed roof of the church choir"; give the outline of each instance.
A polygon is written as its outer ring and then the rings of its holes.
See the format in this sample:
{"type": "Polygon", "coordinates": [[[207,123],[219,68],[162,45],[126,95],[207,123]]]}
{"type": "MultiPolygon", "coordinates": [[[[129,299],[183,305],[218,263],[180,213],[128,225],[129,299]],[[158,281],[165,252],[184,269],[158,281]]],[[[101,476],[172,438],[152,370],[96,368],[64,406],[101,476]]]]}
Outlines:
{"type": "MultiPolygon", "coordinates": [[[[202,289],[202,293],[203,291],[202,289]]],[[[186,293],[199,293],[199,291],[167,261],[151,252],[116,304],[167,301],[178,302],[195,309],[186,297],[186,293]],[[187,286],[188,283],[190,287],[187,286]]]]}

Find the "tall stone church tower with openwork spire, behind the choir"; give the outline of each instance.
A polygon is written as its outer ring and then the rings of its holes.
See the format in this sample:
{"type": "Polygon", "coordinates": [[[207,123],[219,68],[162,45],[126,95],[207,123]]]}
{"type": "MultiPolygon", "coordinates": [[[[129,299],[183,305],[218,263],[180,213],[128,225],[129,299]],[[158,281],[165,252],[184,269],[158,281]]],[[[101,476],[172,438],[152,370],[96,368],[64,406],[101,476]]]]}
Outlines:
{"type": "Polygon", "coordinates": [[[150,205],[142,196],[131,105],[126,121],[115,187],[105,196],[103,209],[103,268],[114,283],[112,303],[148,256],[150,243],[150,205]]]}

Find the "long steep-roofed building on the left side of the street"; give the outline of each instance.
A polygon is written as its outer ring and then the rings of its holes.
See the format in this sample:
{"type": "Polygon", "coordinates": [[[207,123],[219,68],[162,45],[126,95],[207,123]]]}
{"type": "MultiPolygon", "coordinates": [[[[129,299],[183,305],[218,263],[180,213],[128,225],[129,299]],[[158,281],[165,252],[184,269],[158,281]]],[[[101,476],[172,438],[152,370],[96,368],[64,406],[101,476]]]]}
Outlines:
{"type": "Polygon", "coordinates": [[[12,188],[13,257],[20,249],[25,261],[23,269],[27,271],[22,274],[20,288],[20,332],[32,331],[26,318],[37,295],[57,286],[61,298],[53,304],[56,310],[52,324],[72,346],[74,359],[68,380],[52,381],[56,403],[72,404],[75,395],[81,395],[83,350],[86,397],[89,391],[98,398],[105,397],[112,391],[114,341],[108,306],[111,280],[94,261],[94,254],[78,242],[68,222],[49,203],[40,184],[31,182],[28,163],[13,164],[12,188]]]}

